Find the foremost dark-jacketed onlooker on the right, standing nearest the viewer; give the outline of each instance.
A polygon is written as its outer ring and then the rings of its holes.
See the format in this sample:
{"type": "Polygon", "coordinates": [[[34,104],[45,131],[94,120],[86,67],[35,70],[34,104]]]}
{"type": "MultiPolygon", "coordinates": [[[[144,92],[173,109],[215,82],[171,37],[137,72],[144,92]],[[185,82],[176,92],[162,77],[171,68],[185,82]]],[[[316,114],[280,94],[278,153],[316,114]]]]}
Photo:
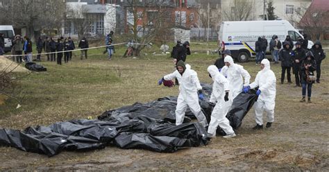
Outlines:
{"type": "Polygon", "coordinates": [[[301,72],[302,72],[302,96],[301,102],[305,102],[306,88],[307,88],[307,102],[311,103],[312,95],[312,84],[314,80],[308,80],[307,76],[314,76],[314,71],[317,69],[317,62],[314,60],[314,55],[312,51],[306,53],[306,58],[302,62],[301,72]]]}

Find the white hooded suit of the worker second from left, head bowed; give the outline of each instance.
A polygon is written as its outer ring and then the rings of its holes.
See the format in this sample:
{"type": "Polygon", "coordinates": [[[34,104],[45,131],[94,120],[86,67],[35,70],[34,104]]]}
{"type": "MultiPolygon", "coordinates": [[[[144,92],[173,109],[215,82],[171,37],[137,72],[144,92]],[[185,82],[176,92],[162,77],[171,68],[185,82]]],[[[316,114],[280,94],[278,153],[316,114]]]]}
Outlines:
{"type": "Polygon", "coordinates": [[[225,93],[230,91],[230,84],[223,75],[219,74],[218,68],[215,65],[208,67],[208,72],[212,80],[214,80],[211,97],[217,100],[214,110],[212,110],[208,133],[216,135],[217,126],[220,126],[227,135],[231,135],[234,131],[230,126],[230,121],[226,118],[226,114],[233,103],[233,97],[230,92],[228,94],[228,101],[224,101],[225,93]]]}

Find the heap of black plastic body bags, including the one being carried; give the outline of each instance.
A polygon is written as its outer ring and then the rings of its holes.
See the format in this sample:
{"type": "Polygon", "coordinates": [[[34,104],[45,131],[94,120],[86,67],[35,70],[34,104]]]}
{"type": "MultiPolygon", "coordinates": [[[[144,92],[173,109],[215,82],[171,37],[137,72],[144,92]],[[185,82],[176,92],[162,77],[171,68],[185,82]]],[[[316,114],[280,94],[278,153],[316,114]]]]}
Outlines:
{"type": "MultiPolygon", "coordinates": [[[[211,85],[202,85],[205,100],[201,109],[208,121],[212,106],[208,100],[211,85]]],[[[239,94],[228,112],[230,125],[237,129],[255,101],[255,92],[239,94]]],[[[20,150],[53,156],[62,150],[94,150],[108,145],[119,148],[142,148],[157,152],[172,153],[181,148],[208,144],[207,132],[187,110],[184,123],[176,126],[175,110],[177,97],[158,98],[149,103],[135,103],[109,110],[99,119],[77,119],[53,123],[50,126],[28,127],[23,131],[0,129],[0,145],[20,150]]],[[[221,128],[219,131],[225,135],[221,128]]]]}

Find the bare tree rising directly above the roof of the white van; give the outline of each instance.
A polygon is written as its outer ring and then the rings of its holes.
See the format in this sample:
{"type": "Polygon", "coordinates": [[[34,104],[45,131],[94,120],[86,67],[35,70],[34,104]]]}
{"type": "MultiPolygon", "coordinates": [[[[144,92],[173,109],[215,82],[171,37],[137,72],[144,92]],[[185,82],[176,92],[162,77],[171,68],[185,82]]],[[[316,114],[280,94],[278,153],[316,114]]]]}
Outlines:
{"type": "Polygon", "coordinates": [[[246,21],[252,10],[251,0],[233,0],[227,7],[222,7],[223,17],[229,21],[246,21]]]}

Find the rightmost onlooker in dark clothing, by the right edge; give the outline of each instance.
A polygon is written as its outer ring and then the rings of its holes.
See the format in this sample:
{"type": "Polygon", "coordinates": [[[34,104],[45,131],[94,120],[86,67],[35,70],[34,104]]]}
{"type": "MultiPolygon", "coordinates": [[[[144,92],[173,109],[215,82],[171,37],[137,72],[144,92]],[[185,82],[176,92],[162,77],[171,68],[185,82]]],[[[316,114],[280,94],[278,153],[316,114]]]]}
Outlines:
{"type": "Polygon", "coordinates": [[[317,62],[317,83],[320,83],[321,62],[324,58],[326,58],[326,53],[324,53],[320,41],[315,42],[315,44],[312,46],[311,51],[314,55],[315,62],[317,62]]]}

